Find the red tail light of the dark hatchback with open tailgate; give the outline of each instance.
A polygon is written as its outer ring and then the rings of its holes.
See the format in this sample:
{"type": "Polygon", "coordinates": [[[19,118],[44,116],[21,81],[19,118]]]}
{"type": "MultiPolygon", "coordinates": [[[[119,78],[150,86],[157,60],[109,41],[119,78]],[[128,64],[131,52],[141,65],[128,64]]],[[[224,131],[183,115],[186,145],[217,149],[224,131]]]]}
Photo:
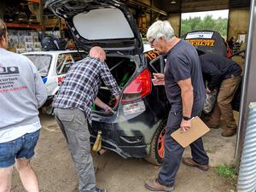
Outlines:
{"type": "Polygon", "coordinates": [[[144,69],[131,84],[129,84],[124,92],[122,103],[132,102],[137,99],[141,99],[144,96],[148,96],[151,92],[151,77],[148,68],[144,69]]]}

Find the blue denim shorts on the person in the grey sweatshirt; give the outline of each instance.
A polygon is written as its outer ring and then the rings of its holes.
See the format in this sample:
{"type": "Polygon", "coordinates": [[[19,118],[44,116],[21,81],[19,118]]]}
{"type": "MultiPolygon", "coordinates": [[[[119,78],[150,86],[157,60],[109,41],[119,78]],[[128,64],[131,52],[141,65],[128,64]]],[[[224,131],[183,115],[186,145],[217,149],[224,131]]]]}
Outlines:
{"type": "Polygon", "coordinates": [[[0,143],[0,167],[15,164],[15,159],[30,159],[35,154],[34,148],[38,143],[40,130],[26,133],[13,141],[0,143]]]}

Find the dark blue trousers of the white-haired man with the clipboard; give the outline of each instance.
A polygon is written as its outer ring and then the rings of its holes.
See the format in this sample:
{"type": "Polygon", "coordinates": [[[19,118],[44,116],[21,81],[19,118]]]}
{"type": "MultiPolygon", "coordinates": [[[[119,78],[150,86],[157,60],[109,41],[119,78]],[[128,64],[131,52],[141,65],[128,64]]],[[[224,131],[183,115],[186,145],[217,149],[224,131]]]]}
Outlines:
{"type": "MultiPolygon", "coordinates": [[[[192,111],[192,117],[199,116],[200,114],[201,110],[192,111]]],[[[171,108],[165,134],[165,159],[158,177],[159,183],[167,186],[173,186],[175,183],[175,177],[184,151],[184,148],[171,137],[172,132],[180,127],[182,119],[182,109],[171,108]]],[[[203,147],[201,138],[189,146],[191,148],[192,159],[195,162],[201,165],[209,163],[209,158],[203,147]]]]}

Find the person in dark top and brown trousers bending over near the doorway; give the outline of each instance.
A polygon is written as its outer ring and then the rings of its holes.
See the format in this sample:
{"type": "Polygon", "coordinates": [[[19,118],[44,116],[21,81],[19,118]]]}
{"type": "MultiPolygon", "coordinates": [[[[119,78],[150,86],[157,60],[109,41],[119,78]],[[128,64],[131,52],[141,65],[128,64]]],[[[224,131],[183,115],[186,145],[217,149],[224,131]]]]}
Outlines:
{"type": "Polygon", "coordinates": [[[218,90],[217,103],[207,125],[218,128],[222,115],[226,124],[222,136],[231,137],[236,134],[237,129],[231,102],[241,82],[241,67],[236,62],[215,54],[201,55],[200,61],[203,77],[208,82],[207,92],[218,90]]]}

